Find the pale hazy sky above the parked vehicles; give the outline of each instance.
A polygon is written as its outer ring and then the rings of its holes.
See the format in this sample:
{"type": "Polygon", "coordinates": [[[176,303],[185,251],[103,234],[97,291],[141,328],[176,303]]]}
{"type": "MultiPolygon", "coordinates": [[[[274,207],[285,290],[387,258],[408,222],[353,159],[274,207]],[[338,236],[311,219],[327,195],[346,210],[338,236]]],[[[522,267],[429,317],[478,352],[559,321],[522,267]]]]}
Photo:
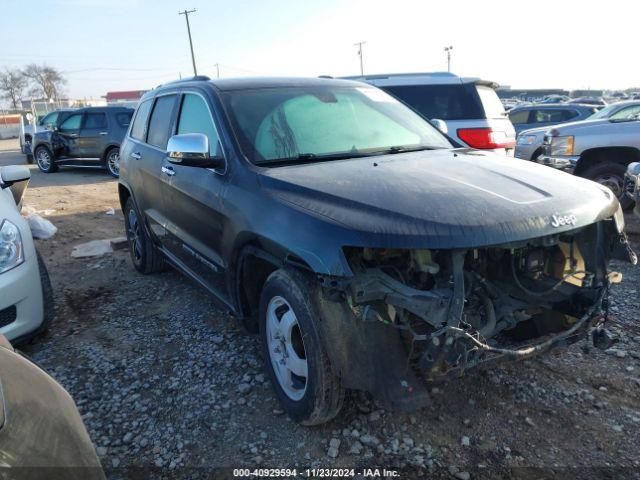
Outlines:
{"type": "Polygon", "coordinates": [[[640,87],[640,2],[576,0],[0,0],[0,70],[64,72],[72,98],[199,74],[451,70],[512,88],[640,87]]]}

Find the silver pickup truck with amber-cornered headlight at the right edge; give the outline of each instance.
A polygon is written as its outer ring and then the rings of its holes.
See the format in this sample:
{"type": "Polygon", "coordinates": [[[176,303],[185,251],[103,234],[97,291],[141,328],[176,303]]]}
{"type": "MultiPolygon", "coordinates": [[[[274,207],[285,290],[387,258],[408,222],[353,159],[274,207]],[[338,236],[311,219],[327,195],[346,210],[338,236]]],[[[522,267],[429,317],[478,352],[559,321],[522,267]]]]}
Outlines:
{"type": "Polygon", "coordinates": [[[624,176],[631,162],[640,161],[640,116],[558,125],[545,135],[536,161],[609,187],[628,208],[624,176]]]}

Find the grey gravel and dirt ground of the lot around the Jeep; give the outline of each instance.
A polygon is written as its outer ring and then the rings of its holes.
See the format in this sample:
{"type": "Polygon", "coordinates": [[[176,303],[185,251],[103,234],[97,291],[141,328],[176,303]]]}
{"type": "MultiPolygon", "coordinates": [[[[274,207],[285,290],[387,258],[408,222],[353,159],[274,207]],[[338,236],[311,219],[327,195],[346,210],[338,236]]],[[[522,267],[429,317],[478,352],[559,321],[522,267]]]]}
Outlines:
{"type": "MultiPolygon", "coordinates": [[[[24,161],[0,152],[0,165],[8,163],[24,161]]],[[[110,478],[296,466],[462,480],[640,472],[637,268],[615,265],[624,279],[613,288],[610,326],[620,342],[608,352],[585,341],[476,371],[434,388],[432,404],[411,414],[351,394],[339,418],[304,428],[279,409],[257,337],[203,290],[172,271],[136,273],[126,250],[70,256],[78,243],[124,234],[106,173],[34,170],[25,204],[55,210],[48,218],[59,231],[37,242],[57,318],[23,350],[74,397],[110,478]]]]}

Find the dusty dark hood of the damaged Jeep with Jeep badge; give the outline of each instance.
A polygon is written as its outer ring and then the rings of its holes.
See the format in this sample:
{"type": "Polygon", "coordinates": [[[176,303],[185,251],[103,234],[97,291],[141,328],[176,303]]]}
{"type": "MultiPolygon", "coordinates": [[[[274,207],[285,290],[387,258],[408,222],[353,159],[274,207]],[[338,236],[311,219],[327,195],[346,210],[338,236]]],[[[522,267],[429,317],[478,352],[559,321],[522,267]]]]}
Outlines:
{"type": "Polygon", "coordinates": [[[469,149],[274,167],[259,181],[278,201],[371,247],[497,245],[588,225],[618,207],[589,180],[469,149]],[[575,222],[554,227],[554,215],[575,222]]]}

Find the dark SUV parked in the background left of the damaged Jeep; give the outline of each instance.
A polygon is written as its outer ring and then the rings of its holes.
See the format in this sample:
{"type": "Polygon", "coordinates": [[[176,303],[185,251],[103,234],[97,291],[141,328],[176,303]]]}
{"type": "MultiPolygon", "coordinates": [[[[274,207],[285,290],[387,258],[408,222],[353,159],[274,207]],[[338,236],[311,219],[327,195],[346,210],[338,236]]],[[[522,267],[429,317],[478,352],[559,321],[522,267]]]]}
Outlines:
{"type": "Polygon", "coordinates": [[[133,109],[87,107],[75,110],[54,128],[38,132],[33,155],[45,173],[59,166],[102,167],[110,175],[120,172],[120,142],[129,128],[133,109]]]}

